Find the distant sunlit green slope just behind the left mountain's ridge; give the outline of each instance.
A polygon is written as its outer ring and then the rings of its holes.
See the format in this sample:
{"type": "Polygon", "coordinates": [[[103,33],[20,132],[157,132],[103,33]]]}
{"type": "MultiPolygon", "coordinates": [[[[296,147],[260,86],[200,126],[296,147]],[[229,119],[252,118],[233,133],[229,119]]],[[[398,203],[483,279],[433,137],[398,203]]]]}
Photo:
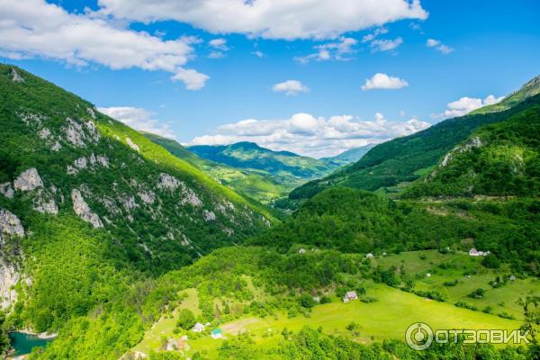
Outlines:
{"type": "Polygon", "coordinates": [[[268,203],[279,197],[286,196],[293,188],[303,183],[291,176],[273,175],[265,170],[228,166],[198,157],[174,139],[165,139],[149,133],[145,133],[144,136],[166,148],[175,157],[182,158],[193,166],[200,168],[220,184],[229,186],[238,193],[247,195],[259,202],[268,203]]]}

